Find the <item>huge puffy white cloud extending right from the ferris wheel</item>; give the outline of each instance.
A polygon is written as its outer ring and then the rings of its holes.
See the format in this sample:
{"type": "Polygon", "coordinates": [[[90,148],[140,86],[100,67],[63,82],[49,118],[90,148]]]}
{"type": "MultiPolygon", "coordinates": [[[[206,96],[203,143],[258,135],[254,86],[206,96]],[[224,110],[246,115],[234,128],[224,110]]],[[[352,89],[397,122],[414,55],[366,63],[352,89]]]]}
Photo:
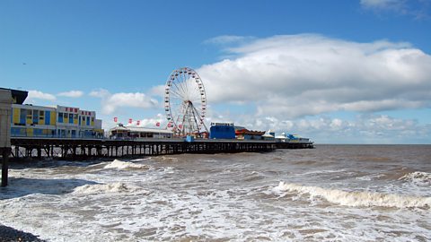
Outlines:
{"type": "Polygon", "coordinates": [[[431,56],[409,43],[303,34],[256,39],[198,69],[209,103],[254,104],[259,116],[431,107],[431,56]]]}

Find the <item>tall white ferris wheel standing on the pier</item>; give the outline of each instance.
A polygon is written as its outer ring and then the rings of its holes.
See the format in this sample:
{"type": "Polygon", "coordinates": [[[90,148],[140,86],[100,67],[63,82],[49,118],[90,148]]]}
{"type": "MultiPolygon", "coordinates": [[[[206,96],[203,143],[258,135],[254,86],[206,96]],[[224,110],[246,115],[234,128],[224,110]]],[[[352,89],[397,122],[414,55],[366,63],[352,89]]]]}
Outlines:
{"type": "Polygon", "coordinates": [[[164,110],[168,128],[176,135],[200,136],[202,127],[207,130],[207,94],[198,73],[189,67],[171,73],[165,86],[164,110]]]}

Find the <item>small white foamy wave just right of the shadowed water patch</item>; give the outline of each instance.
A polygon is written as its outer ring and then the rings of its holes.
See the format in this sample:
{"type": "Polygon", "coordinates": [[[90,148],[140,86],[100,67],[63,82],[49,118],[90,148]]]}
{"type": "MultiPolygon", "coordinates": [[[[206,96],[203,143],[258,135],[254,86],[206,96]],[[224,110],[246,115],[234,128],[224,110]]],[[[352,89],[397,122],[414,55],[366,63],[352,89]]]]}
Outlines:
{"type": "Polygon", "coordinates": [[[138,186],[129,186],[121,182],[111,184],[93,184],[78,186],[73,194],[106,194],[106,193],[129,193],[139,190],[138,186]]]}

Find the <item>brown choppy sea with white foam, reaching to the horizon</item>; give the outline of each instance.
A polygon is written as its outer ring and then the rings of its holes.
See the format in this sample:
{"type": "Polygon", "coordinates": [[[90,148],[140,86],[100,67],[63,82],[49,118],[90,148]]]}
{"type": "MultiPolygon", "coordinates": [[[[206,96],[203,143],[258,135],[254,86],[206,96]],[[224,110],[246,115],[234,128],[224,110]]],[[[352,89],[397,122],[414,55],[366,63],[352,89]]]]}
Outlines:
{"type": "Polygon", "coordinates": [[[13,163],[0,223],[47,241],[431,241],[431,145],[13,163]]]}

